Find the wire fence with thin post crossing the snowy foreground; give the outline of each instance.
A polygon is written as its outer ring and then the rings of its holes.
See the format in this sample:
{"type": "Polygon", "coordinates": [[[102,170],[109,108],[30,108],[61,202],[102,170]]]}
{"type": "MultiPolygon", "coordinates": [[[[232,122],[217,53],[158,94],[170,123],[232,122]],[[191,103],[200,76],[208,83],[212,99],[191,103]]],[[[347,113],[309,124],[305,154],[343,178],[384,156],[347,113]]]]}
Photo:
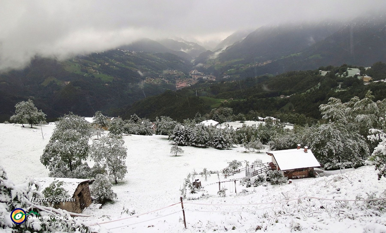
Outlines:
{"type": "Polygon", "coordinates": [[[139,224],[139,223],[144,223],[144,222],[147,222],[147,221],[156,220],[156,219],[159,219],[159,218],[163,218],[163,217],[166,217],[166,216],[169,216],[169,215],[173,215],[173,214],[179,213],[181,211],[183,212],[183,220],[184,220],[184,225],[185,225],[185,228],[186,228],[185,211],[207,212],[207,213],[240,213],[240,212],[248,212],[248,211],[259,211],[259,210],[266,210],[266,209],[270,209],[270,208],[281,207],[281,206],[283,206],[284,203],[288,203],[289,201],[296,201],[296,200],[299,200],[299,199],[307,199],[307,201],[310,201],[310,199],[318,199],[318,200],[325,200],[325,201],[380,201],[380,200],[386,200],[386,198],[375,198],[375,199],[328,199],[328,198],[318,198],[318,197],[313,197],[313,196],[308,196],[307,195],[307,196],[303,196],[303,197],[300,197],[300,198],[282,199],[280,201],[271,201],[271,202],[264,202],[264,203],[235,203],[235,204],[219,203],[219,204],[212,204],[212,203],[183,202],[183,200],[181,198],[180,202],[178,202],[178,203],[174,203],[172,205],[164,206],[164,207],[156,209],[156,210],[151,210],[151,211],[148,211],[146,213],[131,215],[131,216],[128,216],[128,217],[125,217],[125,218],[119,218],[119,219],[116,219],[116,220],[110,220],[110,221],[103,221],[103,222],[100,222],[100,223],[94,223],[94,224],[91,224],[91,226],[96,226],[96,225],[100,226],[100,225],[106,224],[106,223],[113,223],[113,222],[117,222],[117,221],[122,221],[122,220],[127,220],[127,219],[130,219],[130,218],[139,217],[139,216],[142,216],[142,215],[148,215],[150,213],[154,213],[156,211],[164,210],[166,208],[170,208],[172,206],[181,204],[181,210],[174,211],[173,213],[169,213],[169,214],[162,215],[162,216],[157,216],[156,218],[151,218],[151,219],[148,219],[148,220],[139,221],[139,222],[135,222],[135,223],[130,223],[130,224],[122,225],[122,226],[115,226],[113,228],[108,228],[108,230],[122,228],[122,227],[131,226],[131,225],[135,225],[135,224],[139,224]],[[224,211],[217,211],[217,210],[192,210],[192,209],[186,209],[186,208],[183,207],[183,204],[201,205],[201,206],[252,206],[252,205],[256,206],[256,205],[269,205],[269,204],[277,204],[277,203],[281,203],[281,205],[267,206],[265,208],[258,208],[258,209],[251,209],[251,210],[224,210],[224,211]]]}

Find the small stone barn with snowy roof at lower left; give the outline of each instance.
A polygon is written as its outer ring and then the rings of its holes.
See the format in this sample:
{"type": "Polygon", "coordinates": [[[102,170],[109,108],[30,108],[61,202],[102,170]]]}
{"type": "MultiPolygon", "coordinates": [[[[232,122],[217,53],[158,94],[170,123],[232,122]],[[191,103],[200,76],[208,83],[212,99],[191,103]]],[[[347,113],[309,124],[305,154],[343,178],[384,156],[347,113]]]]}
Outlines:
{"type": "MultiPolygon", "coordinates": [[[[74,178],[34,178],[41,185],[41,191],[47,188],[54,180],[63,181],[62,188],[68,192],[68,201],[59,204],[60,209],[67,210],[73,213],[82,213],[83,209],[91,205],[91,194],[88,184],[88,179],[74,179],[74,178]]],[[[50,197],[45,197],[50,198],[50,197]]]]}

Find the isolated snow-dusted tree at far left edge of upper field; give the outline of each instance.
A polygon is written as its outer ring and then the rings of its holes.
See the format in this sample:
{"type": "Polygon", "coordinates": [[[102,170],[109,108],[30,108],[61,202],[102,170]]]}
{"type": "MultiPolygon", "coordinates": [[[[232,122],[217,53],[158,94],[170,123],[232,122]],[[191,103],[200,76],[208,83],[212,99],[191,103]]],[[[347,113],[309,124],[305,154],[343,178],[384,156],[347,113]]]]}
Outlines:
{"type": "Polygon", "coordinates": [[[41,110],[37,110],[32,100],[22,101],[15,105],[15,115],[11,117],[11,121],[20,123],[24,127],[24,124],[29,124],[32,128],[34,124],[46,121],[46,114],[41,110]]]}

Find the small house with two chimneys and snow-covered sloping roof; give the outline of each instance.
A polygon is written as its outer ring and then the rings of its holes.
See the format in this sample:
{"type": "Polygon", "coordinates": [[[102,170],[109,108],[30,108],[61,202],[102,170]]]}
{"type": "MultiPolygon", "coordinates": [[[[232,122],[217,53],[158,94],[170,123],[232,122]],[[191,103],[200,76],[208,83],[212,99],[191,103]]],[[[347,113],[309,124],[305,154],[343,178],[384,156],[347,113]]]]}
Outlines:
{"type": "Polygon", "coordinates": [[[301,148],[298,144],[296,149],[267,151],[272,157],[269,163],[271,170],[282,171],[288,179],[300,179],[313,177],[314,168],[320,164],[308,147],[301,148]]]}

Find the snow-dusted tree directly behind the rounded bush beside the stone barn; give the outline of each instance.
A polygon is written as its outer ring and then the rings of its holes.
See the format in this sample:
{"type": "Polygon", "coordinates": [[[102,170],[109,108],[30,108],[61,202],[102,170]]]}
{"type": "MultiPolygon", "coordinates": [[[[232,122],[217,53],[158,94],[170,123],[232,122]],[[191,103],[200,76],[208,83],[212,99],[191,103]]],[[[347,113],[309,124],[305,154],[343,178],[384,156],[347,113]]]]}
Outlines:
{"type": "Polygon", "coordinates": [[[127,148],[122,139],[114,137],[101,137],[93,141],[90,156],[107,171],[108,178],[118,184],[118,179],[123,179],[127,173],[126,157],[127,148]]]}

